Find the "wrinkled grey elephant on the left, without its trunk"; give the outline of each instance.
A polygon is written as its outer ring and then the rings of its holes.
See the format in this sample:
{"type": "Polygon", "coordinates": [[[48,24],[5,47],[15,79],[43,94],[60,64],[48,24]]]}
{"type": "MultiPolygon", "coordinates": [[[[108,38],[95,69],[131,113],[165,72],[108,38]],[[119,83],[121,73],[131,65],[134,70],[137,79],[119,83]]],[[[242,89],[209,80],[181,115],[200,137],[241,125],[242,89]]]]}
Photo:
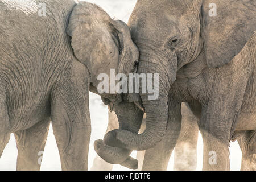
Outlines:
{"type": "Polygon", "coordinates": [[[51,120],[61,168],[87,169],[89,89],[96,92],[97,75],[111,68],[135,71],[139,52],[129,27],[72,0],[1,0],[0,22],[0,155],[14,133],[17,169],[40,169],[51,120]]]}

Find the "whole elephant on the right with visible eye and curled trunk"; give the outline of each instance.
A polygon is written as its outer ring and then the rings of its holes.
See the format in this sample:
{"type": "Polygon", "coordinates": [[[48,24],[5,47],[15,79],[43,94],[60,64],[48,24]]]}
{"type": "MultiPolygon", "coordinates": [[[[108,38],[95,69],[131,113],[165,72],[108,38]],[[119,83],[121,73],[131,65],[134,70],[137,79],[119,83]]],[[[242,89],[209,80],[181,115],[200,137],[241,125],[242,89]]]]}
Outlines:
{"type": "MultiPolygon", "coordinates": [[[[180,133],[181,102],[188,102],[200,119],[203,170],[228,170],[234,131],[256,130],[255,9],[246,0],[138,0],[129,20],[140,51],[138,73],[159,73],[159,98],[140,94],[147,115],[142,134],[113,130],[105,140],[149,149],[142,169],[164,170],[180,133]],[[210,3],[217,5],[216,17],[209,15],[210,3]]],[[[245,159],[255,164],[255,133],[244,137],[245,159]]]]}

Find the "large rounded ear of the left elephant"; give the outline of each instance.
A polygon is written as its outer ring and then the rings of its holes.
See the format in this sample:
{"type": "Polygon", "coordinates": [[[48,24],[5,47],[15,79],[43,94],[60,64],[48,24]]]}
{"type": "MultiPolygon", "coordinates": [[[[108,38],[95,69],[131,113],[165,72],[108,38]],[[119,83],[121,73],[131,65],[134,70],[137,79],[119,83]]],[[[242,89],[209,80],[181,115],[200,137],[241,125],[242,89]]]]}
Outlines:
{"type": "Polygon", "coordinates": [[[100,7],[79,2],[69,17],[67,34],[76,58],[89,69],[91,82],[97,87],[97,76],[117,69],[122,51],[122,30],[100,7]]]}

